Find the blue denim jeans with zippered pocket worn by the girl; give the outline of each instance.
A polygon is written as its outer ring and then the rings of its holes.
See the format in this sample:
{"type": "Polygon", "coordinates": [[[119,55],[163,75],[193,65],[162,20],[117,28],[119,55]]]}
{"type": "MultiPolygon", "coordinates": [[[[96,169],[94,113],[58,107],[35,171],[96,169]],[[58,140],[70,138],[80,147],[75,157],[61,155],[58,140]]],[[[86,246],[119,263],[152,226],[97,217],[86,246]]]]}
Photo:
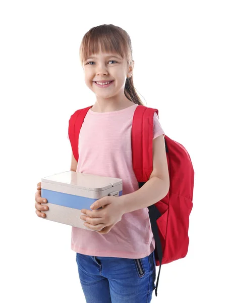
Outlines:
{"type": "Polygon", "coordinates": [[[86,303],[149,303],[155,289],[154,252],[142,259],[76,254],[86,303]]]}

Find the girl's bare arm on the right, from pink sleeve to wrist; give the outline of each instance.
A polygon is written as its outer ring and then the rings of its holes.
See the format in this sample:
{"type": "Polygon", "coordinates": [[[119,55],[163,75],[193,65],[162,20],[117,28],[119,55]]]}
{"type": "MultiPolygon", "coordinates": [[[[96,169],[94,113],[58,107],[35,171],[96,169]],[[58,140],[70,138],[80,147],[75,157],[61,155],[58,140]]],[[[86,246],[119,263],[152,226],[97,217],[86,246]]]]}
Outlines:
{"type": "Polygon", "coordinates": [[[120,196],[124,213],[130,213],[155,204],[166,196],[170,177],[165,153],[164,136],[153,140],[153,170],[149,180],[135,192],[120,196]]]}

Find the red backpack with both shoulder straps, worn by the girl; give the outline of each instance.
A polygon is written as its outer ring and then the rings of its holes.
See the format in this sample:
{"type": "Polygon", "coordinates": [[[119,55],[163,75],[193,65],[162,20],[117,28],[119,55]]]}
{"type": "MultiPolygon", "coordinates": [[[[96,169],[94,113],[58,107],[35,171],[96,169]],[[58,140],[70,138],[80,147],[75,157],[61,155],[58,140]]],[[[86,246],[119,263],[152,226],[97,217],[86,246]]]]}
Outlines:
{"type": "MultiPolygon", "coordinates": [[[[91,108],[77,110],[69,120],[69,139],[75,159],[78,161],[79,133],[91,108]]],[[[139,187],[150,178],[153,170],[152,141],[153,118],[158,110],[139,105],[132,124],[133,169],[139,187]],[[142,155],[142,157],[140,156],[142,155]]],[[[159,266],[155,288],[162,264],[184,258],[188,252],[189,215],[193,207],[194,169],[191,158],[183,145],[165,135],[165,150],[170,175],[170,190],[156,204],[148,207],[152,233],[155,239],[155,260],[159,266]]]]}

